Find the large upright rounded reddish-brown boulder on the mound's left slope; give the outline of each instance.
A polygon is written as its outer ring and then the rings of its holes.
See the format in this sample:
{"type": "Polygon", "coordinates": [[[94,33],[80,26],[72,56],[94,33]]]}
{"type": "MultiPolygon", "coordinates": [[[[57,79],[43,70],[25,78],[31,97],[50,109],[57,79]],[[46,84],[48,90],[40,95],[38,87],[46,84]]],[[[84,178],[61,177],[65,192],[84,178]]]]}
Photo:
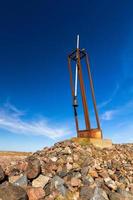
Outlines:
{"type": "Polygon", "coordinates": [[[29,157],[28,159],[28,167],[27,167],[27,177],[28,179],[36,178],[41,172],[41,165],[40,161],[33,156],[29,157]]]}

